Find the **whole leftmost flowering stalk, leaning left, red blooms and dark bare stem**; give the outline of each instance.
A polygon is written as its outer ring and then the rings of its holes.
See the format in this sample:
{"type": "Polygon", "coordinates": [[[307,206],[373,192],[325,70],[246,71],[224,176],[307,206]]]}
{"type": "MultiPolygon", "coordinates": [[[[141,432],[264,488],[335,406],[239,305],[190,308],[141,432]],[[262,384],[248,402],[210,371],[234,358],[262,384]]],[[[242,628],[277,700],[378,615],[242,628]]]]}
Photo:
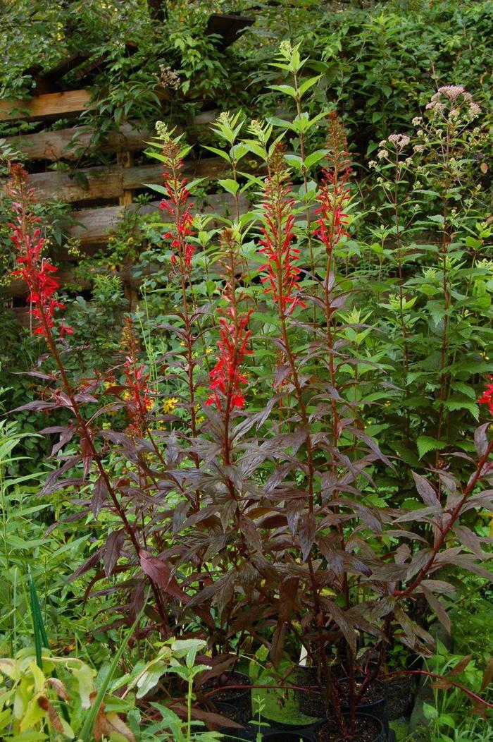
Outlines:
{"type": "MultiPolygon", "coordinates": [[[[102,482],[104,482],[107,493],[113,502],[113,507],[115,508],[116,513],[118,513],[118,516],[125,528],[125,532],[136,551],[137,559],[139,559],[141,546],[136,534],[136,528],[130,524],[125,513],[125,508],[122,503],[119,502],[116,490],[114,489],[110,476],[102,462],[102,457],[96,449],[93,430],[91,430],[90,424],[87,423],[85,418],[82,416],[77,394],[74,392],[73,387],[70,384],[59,349],[56,345],[56,339],[53,335],[53,313],[56,308],[61,309],[62,304],[54,298],[54,291],[56,289],[54,289],[51,284],[50,286],[47,286],[45,278],[43,278],[44,272],[42,269],[42,263],[39,262],[42,245],[39,246],[39,235],[36,234],[36,229],[34,232],[31,232],[32,226],[35,223],[39,223],[39,220],[34,217],[30,211],[35,203],[34,195],[33,191],[27,188],[27,173],[19,165],[13,167],[13,176],[9,185],[9,192],[13,197],[13,209],[17,217],[16,223],[12,225],[12,239],[19,249],[17,260],[18,263],[23,266],[21,269],[21,276],[26,280],[27,286],[33,295],[31,297],[32,303],[35,305],[33,310],[33,312],[35,312],[33,319],[36,326],[33,332],[44,337],[47,347],[53,355],[53,360],[59,369],[69,409],[73,412],[79,427],[82,457],[85,459],[85,467],[87,467],[87,462],[89,462],[89,465],[91,461],[95,462],[99,476],[102,479],[102,482]]],[[[53,266],[51,267],[52,270],[49,273],[53,273],[53,266]]],[[[64,334],[64,332],[67,332],[67,326],[64,326],[63,323],[62,326],[64,327],[64,331],[61,331],[61,335],[64,334]]],[[[68,331],[70,332],[70,329],[68,331]]],[[[149,580],[156,600],[156,608],[159,612],[159,617],[162,620],[163,631],[165,634],[169,634],[168,616],[166,615],[165,606],[162,603],[159,587],[151,578],[149,578],[149,580]]]]}

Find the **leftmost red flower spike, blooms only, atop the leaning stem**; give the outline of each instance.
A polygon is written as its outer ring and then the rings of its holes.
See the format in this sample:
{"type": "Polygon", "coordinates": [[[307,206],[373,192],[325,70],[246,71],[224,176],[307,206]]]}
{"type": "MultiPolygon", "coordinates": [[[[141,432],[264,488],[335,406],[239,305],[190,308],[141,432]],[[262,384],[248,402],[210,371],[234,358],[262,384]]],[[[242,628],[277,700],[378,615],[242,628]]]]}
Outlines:
{"type": "MultiPolygon", "coordinates": [[[[54,325],[56,309],[64,309],[56,297],[59,283],[53,278],[56,268],[46,257],[42,257],[44,238],[38,225],[41,222],[35,217],[32,208],[36,203],[34,191],[27,187],[27,172],[21,165],[13,165],[7,194],[13,200],[12,208],[16,215],[9,226],[13,229],[10,239],[16,246],[19,269],[14,276],[22,278],[29,289],[27,303],[31,308],[34,335],[47,337],[47,332],[54,325]]],[[[62,321],[60,336],[72,335],[73,329],[62,321]]]]}

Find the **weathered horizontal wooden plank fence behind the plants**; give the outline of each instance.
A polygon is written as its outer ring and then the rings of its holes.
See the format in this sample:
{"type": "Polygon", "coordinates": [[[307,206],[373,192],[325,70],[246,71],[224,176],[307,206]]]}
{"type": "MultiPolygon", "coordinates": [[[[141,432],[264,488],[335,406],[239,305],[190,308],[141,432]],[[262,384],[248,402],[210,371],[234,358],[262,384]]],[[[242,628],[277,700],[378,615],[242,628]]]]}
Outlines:
{"type": "MultiPolygon", "coordinates": [[[[42,94],[29,101],[0,101],[0,121],[28,118],[53,122],[69,114],[78,116],[90,106],[90,99],[90,91],[81,90],[42,94]]],[[[216,111],[195,116],[186,127],[187,139],[191,142],[211,139],[209,126],[215,118],[216,111]]],[[[29,176],[30,185],[40,201],[56,199],[73,206],[64,230],[65,237],[79,240],[83,250],[93,251],[105,244],[125,209],[139,208],[144,214],[159,211],[158,200],[145,206],[137,206],[133,200],[135,191],[148,190],[146,183],[162,183],[160,163],[133,164],[136,154],[142,153],[152,136],[153,131],[130,121],[118,131],[111,131],[102,141],[98,138],[97,144],[94,144],[90,128],[77,125],[8,137],[6,141],[24,154],[29,170],[44,168],[29,176]],[[99,152],[107,154],[111,160],[109,165],[74,166],[73,163],[80,160],[81,152],[90,155],[96,147],[99,152]],[[67,163],[70,167],[47,169],[53,163],[67,163]]],[[[228,171],[221,157],[189,158],[185,161],[185,174],[189,179],[216,180],[227,177],[228,171]]],[[[210,194],[200,200],[196,210],[228,213],[233,206],[233,199],[228,194],[210,194]]],[[[242,199],[242,207],[246,209],[246,206],[246,200],[242,199]]],[[[59,273],[62,285],[72,279],[73,270],[64,269],[59,273]]],[[[12,280],[3,293],[7,298],[21,297],[25,295],[25,286],[20,280],[12,280]]]]}

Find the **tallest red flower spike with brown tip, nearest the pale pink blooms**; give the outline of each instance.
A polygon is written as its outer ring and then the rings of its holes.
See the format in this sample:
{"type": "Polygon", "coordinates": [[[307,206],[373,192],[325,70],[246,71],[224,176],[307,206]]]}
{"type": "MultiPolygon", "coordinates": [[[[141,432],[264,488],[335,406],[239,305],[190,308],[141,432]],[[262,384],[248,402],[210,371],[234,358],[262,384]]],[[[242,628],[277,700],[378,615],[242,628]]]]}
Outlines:
{"type": "Polygon", "coordinates": [[[348,232],[345,231],[348,214],[345,214],[344,209],[351,198],[347,187],[351,166],[346,148],[343,123],[333,111],[328,120],[328,167],[323,171],[322,185],[317,196],[319,207],[315,213],[320,216],[314,231],[314,236],[325,245],[328,255],[331,255],[341,237],[348,237],[348,232]]]}

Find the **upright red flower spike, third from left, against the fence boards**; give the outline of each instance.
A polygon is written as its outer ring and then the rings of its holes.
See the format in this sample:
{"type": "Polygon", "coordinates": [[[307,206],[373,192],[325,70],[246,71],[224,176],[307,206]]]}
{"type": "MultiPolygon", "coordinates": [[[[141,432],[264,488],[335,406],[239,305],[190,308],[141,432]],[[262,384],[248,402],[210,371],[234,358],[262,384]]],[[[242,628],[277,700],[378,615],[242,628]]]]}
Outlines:
{"type": "Polygon", "coordinates": [[[165,233],[165,240],[171,240],[171,248],[176,251],[176,254],[171,256],[171,263],[174,265],[178,259],[189,271],[195,252],[194,246],[188,241],[193,232],[193,217],[190,211],[193,204],[188,203],[190,192],[186,187],[187,179],[182,177],[183,162],[179,143],[171,138],[165,140],[162,154],[167,159],[163,177],[168,200],[163,199],[159,208],[168,211],[172,221],[171,228],[165,233]]]}

